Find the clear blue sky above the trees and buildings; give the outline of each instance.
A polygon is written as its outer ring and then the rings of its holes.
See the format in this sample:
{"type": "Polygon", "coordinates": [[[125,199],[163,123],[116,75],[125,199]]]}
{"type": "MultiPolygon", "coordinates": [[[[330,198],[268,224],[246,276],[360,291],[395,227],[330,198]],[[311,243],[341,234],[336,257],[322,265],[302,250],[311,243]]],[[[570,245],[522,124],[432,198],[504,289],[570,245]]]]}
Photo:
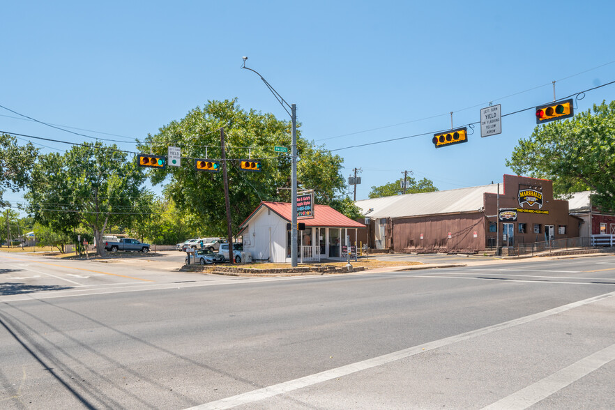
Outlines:
{"type": "MultiPolygon", "coordinates": [[[[296,103],[303,137],[331,150],[445,130],[451,111],[464,126],[489,101],[503,114],[540,105],[553,80],[557,98],[615,80],[612,1],[11,1],[2,15],[0,105],[130,151],[207,100],[287,119],[242,56],[296,103]]],[[[615,84],[578,109],[614,99],[615,84]]],[[[3,131],[86,140],[0,115],[3,131]]],[[[500,135],[476,126],[467,144],[436,150],[427,135],[334,152],[344,176],[363,169],[357,199],[404,169],[454,189],[501,181],[535,126],[529,110],[500,135]]]]}

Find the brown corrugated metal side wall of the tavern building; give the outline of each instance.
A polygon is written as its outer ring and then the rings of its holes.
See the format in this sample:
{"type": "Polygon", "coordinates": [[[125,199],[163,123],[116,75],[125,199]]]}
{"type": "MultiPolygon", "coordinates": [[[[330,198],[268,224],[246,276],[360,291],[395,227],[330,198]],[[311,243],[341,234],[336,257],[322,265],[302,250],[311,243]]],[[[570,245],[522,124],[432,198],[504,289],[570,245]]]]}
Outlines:
{"type": "Polygon", "coordinates": [[[400,218],[391,220],[391,224],[391,245],[395,252],[485,250],[485,215],[482,212],[400,218]]]}

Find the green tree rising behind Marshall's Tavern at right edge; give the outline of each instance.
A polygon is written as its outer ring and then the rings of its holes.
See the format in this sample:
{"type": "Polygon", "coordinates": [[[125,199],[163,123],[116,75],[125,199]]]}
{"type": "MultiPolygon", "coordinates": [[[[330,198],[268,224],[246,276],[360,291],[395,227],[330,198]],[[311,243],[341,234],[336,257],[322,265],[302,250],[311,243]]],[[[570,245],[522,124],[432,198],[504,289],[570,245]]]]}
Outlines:
{"type": "Polygon", "coordinates": [[[615,101],[519,139],[506,165],[516,174],[551,179],[556,195],[594,190],[592,202],[615,209],[615,101]]]}

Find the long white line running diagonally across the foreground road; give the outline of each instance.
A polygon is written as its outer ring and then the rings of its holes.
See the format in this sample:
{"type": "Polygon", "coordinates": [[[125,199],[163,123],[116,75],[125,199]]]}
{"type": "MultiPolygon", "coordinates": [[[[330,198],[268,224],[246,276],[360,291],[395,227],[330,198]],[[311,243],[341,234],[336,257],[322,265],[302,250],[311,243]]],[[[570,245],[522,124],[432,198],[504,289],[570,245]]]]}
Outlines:
{"type": "Polygon", "coordinates": [[[408,358],[410,356],[415,356],[425,351],[430,351],[433,349],[438,349],[439,347],[448,346],[449,344],[462,342],[463,340],[468,340],[473,337],[487,335],[488,333],[502,331],[504,329],[511,328],[513,326],[519,326],[521,324],[526,324],[531,321],[543,319],[545,317],[549,317],[554,314],[566,312],[567,310],[574,309],[575,307],[587,305],[589,303],[594,303],[597,301],[602,301],[602,299],[611,298],[613,296],[615,296],[615,292],[610,292],[608,294],[603,294],[600,296],[595,296],[593,298],[584,299],[583,301],[569,303],[568,305],[555,307],[554,309],[545,310],[544,312],[530,314],[529,316],[520,317],[519,319],[513,319],[510,321],[505,321],[501,324],[487,326],[486,328],[480,328],[480,329],[477,329],[476,331],[469,331],[466,333],[461,333],[460,335],[445,337],[444,339],[435,340],[434,342],[428,342],[426,344],[420,344],[419,346],[409,347],[408,349],[394,351],[393,353],[385,354],[384,356],[379,356],[379,357],[363,360],[357,363],[351,363],[350,365],[336,367],[335,369],[331,369],[331,370],[325,370],[324,372],[311,374],[310,376],[301,377],[299,379],[284,381],[283,383],[274,384],[273,386],[259,388],[257,390],[248,391],[246,393],[241,393],[239,395],[226,397],[221,400],[216,400],[215,402],[208,402],[205,404],[201,404],[199,406],[190,407],[190,410],[230,409],[231,407],[241,406],[242,404],[249,404],[252,402],[257,402],[259,400],[264,400],[269,397],[273,397],[273,396],[280,395],[283,393],[289,393],[293,390],[298,390],[300,388],[312,386],[314,384],[318,384],[323,381],[336,379],[337,377],[347,376],[348,374],[359,372],[360,370],[367,370],[372,367],[385,365],[386,363],[390,363],[395,360],[400,360],[402,358],[408,358]]]}

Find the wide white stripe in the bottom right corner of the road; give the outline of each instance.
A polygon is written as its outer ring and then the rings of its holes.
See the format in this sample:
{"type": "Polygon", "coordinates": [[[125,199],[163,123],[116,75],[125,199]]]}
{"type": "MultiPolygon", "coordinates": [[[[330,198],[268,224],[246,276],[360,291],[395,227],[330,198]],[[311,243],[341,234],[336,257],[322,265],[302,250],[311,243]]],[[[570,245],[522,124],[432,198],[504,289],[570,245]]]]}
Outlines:
{"type": "Polygon", "coordinates": [[[544,400],[569,384],[585,377],[594,370],[598,370],[612,360],[615,360],[615,344],[597,351],[576,363],[572,363],[572,365],[564,367],[554,374],[545,377],[545,379],[522,388],[512,395],[489,404],[489,406],[483,407],[483,410],[527,409],[533,404],[540,402],[540,400],[544,400]]]}

